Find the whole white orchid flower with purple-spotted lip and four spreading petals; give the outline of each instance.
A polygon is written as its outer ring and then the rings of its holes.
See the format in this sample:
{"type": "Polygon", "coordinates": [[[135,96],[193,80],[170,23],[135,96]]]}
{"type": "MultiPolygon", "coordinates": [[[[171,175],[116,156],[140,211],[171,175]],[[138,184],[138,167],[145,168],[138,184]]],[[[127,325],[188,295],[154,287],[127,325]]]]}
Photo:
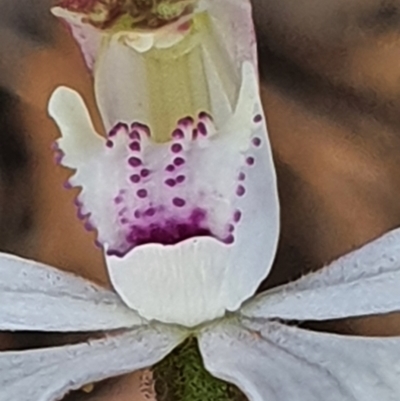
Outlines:
{"type": "Polygon", "coordinates": [[[279,206],[249,3],[65,0],[53,11],[92,70],[107,131],[76,91],[54,92],[60,162],[76,170],[69,185],[82,188],[79,216],[114,291],[1,255],[0,330],[104,337],[0,353],[0,401],[54,401],[151,367],[188,338],[250,401],[397,400],[400,338],[293,322],[400,311],[400,230],[255,295],[279,206]]]}

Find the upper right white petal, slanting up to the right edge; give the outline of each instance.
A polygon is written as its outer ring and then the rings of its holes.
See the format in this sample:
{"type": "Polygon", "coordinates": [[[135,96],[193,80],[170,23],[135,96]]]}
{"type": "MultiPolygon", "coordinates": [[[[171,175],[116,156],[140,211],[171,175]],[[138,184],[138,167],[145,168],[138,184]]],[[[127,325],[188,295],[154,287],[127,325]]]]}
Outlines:
{"type": "Polygon", "coordinates": [[[400,311],[400,230],[322,270],[267,291],[246,305],[248,317],[328,320],[400,311]]]}

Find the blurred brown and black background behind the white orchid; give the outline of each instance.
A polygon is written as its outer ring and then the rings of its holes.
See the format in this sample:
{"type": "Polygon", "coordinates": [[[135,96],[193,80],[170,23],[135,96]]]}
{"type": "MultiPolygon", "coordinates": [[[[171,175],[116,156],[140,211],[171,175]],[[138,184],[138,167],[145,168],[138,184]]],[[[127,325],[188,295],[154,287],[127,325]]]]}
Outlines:
{"type": "MultiPolygon", "coordinates": [[[[94,238],[75,217],[75,193],[63,189],[70,173],[53,160],[58,131],[46,110],[52,90],[71,86],[94,115],[96,108],[79,50],[50,4],[0,0],[0,250],[107,286],[94,238]]],[[[278,257],[264,289],[399,226],[400,0],[253,6],[282,202],[278,257]]],[[[310,325],[400,334],[396,315],[310,325]]],[[[3,334],[0,348],[60,341],[3,334]]]]}

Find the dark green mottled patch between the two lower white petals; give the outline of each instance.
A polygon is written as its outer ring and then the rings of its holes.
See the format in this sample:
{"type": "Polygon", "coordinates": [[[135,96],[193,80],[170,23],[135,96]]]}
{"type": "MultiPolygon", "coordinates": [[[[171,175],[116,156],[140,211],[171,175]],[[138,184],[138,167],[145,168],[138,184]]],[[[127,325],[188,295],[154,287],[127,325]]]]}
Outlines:
{"type": "Polygon", "coordinates": [[[206,371],[194,338],[176,348],[153,372],[159,401],[246,400],[235,386],[206,371]]]}

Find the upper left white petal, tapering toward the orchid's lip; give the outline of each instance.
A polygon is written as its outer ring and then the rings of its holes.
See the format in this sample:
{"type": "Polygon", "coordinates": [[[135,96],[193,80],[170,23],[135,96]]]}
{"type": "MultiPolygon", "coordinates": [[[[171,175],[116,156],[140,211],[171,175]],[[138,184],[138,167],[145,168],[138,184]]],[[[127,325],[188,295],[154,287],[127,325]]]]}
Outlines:
{"type": "Polygon", "coordinates": [[[111,291],[50,266],[0,254],[0,330],[101,331],[141,323],[111,291]]]}

